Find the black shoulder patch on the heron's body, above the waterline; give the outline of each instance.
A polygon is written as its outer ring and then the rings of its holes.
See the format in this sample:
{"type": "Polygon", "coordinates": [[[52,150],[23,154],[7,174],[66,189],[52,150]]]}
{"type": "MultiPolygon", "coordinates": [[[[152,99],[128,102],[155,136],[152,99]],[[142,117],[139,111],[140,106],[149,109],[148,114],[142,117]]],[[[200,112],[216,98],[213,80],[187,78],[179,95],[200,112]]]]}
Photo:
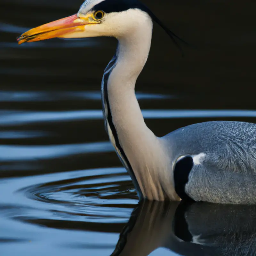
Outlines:
{"type": "Polygon", "coordinates": [[[184,156],[175,164],[173,171],[174,188],[178,196],[182,200],[191,201],[185,192],[185,185],[188,182],[189,172],[192,170],[194,165],[193,158],[191,156],[184,156]]]}

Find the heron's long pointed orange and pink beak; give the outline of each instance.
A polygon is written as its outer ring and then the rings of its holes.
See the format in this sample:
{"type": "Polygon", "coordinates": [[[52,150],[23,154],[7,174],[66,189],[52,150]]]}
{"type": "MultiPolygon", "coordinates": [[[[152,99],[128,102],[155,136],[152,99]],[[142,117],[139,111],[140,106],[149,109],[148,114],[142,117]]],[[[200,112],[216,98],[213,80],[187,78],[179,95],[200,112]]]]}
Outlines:
{"type": "Polygon", "coordinates": [[[55,20],[37,28],[32,28],[23,33],[18,39],[18,43],[35,42],[54,37],[64,37],[66,34],[84,31],[87,24],[92,24],[88,18],[77,18],[77,14],[55,20]]]}

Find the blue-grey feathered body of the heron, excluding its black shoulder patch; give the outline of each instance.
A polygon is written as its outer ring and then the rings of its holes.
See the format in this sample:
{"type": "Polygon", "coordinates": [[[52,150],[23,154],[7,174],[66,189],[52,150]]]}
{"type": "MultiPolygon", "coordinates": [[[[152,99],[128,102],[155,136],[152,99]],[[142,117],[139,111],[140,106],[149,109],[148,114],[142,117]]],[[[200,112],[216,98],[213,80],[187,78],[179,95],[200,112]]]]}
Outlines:
{"type": "Polygon", "coordinates": [[[215,121],[180,128],[165,138],[173,159],[204,153],[189,173],[186,193],[196,201],[256,203],[256,125],[215,121]]]}

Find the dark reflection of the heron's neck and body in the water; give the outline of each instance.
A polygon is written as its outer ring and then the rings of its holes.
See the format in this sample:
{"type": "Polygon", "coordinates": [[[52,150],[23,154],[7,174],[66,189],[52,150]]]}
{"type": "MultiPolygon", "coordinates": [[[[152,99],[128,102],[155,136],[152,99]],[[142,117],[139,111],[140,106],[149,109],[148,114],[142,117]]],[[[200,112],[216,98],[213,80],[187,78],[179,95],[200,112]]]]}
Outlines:
{"type": "Polygon", "coordinates": [[[164,247],[179,255],[256,255],[256,206],[141,202],[111,256],[147,256],[164,247]]]}

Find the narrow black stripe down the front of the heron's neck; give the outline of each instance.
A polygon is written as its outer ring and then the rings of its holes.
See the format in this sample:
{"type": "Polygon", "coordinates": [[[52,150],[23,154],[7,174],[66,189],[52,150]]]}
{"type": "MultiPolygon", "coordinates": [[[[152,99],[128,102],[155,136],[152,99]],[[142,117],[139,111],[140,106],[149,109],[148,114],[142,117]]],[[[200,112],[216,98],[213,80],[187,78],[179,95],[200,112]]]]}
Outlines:
{"type": "MultiPolygon", "coordinates": [[[[117,57],[116,57],[116,55],[114,55],[112,60],[108,63],[108,66],[105,69],[104,76],[103,76],[103,91],[104,91],[104,97],[105,97],[105,99],[103,99],[103,100],[105,100],[106,105],[107,105],[107,109],[108,109],[108,114],[107,115],[105,114],[105,116],[107,118],[108,125],[109,125],[109,127],[111,129],[111,132],[113,134],[113,137],[114,137],[114,140],[115,140],[115,143],[116,143],[116,147],[120,151],[120,154],[124,158],[124,161],[125,161],[128,169],[129,169],[128,173],[129,173],[129,175],[132,178],[133,185],[135,186],[135,189],[137,190],[139,198],[142,198],[142,193],[141,193],[141,190],[140,190],[140,186],[139,186],[139,183],[138,183],[138,181],[137,181],[137,179],[135,177],[135,174],[134,174],[134,172],[132,170],[132,166],[131,166],[127,156],[125,155],[124,150],[121,147],[120,142],[118,140],[118,135],[117,135],[116,128],[115,128],[115,125],[114,125],[113,120],[112,120],[112,115],[111,115],[111,110],[110,110],[110,105],[109,105],[109,99],[108,99],[108,78],[109,78],[112,70],[115,68],[116,60],[117,60],[117,57]]],[[[104,105],[103,105],[103,109],[104,109],[104,105]]]]}

